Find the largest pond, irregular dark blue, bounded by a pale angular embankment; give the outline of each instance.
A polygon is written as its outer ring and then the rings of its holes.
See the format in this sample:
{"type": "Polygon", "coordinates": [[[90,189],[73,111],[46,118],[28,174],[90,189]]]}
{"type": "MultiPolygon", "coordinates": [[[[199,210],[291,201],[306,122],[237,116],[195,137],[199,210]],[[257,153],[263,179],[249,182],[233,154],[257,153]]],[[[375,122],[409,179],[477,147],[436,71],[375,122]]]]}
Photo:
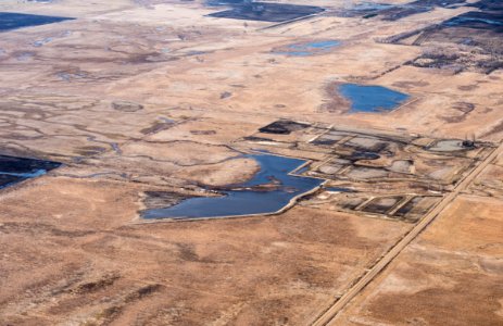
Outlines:
{"type": "Polygon", "coordinates": [[[269,154],[250,154],[259,162],[261,171],[250,181],[232,185],[222,197],[196,197],[166,209],[153,209],[143,218],[209,218],[236,215],[274,213],[288,205],[299,195],[305,193],[323,180],[289,175],[304,163],[302,160],[269,154]],[[251,187],[274,185],[252,189],[251,187]]]}

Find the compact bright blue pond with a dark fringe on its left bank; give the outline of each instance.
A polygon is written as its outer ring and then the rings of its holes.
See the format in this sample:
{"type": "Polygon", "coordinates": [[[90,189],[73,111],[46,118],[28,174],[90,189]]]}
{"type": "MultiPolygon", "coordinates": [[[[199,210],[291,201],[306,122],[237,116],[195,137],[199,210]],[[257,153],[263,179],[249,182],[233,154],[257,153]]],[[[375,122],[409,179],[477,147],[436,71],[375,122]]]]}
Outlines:
{"type": "Polygon", "coordinates": [[[391,111],[410,98],[408,95],[382,86],[342,84],[339,92],[351,101],[351,112],[391,111]]]}

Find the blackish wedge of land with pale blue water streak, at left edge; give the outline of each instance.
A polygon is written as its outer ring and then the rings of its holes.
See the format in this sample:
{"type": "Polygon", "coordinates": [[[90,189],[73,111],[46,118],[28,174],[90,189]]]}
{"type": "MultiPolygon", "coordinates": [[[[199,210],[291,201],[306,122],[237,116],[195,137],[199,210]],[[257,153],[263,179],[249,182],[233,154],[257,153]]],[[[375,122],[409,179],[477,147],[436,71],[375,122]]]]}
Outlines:
{"type": "Polygon", "coordinates": [[[0,189],[45,175],[60,165],[58,162],[0,155],[0,189]]]}

